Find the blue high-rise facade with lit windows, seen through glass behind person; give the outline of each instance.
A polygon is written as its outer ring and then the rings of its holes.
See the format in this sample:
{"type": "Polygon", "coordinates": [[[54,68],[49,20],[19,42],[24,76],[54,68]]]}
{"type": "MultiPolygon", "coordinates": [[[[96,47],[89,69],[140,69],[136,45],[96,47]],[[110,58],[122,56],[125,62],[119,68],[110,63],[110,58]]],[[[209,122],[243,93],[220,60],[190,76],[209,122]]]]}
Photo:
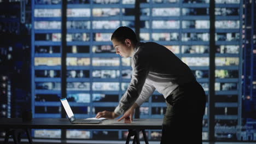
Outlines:
{"type": "MultiPolygon", "coordinates": [[[[230,128],[241,121],[238,112],[241,4],[238,0],[216,1],[216,140],[238,140],[236,131],[230,132],[230,128]]],[[[155,41],[175,53],[189,65],[208,95],[209,1],[147,0],[141,1],[140,7],[141,41],[155,41]]],[[[32,11],[33,114],[60,118],[61,1],[33,0],[32,11]]],[[[114,110],[129,85],[131,59],[115,55],[110,41],[119,26],[135,30],[135,0],[68,1],[67,98],[76,117],[95,117],[99,111],[114,110]]],[[[207,103],[203,140],[208,140],[208,109],[211,107],[207,103]]],[[[164,97],[154,92],[139,111],[141,118],[163,118],[164,97]]],[[[34,130],[33,136],[51,138],[46,133],[61,136],[60,130],[34,130]]],[[[66,133],[67,139],[99,140],[108,139],[109,135],[121,140],[127,137],[127,131],[67,130],[66,133]]],[[[161,130],[148,130],[147,135],[149,140],[160,140],[161,130]]]]}

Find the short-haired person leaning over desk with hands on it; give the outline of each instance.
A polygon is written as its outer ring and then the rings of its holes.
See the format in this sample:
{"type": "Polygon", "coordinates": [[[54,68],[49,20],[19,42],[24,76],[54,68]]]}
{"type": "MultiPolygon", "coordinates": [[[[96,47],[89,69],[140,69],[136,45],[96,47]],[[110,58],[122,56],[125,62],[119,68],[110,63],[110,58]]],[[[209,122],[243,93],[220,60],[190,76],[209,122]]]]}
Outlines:
{"type": "Polygon", "coordinates": [[[98,112],[96,118],[123,115],[118,121],[130,117],[132,122],[136,107],[157,90],[167,105],[161,144],[202,143],[206,95],[188,65],[165,46],[139,42],[129,27],[116,29],[111,41],[118,55],[131,57],[132,79],[115,110],[98,112]]]}

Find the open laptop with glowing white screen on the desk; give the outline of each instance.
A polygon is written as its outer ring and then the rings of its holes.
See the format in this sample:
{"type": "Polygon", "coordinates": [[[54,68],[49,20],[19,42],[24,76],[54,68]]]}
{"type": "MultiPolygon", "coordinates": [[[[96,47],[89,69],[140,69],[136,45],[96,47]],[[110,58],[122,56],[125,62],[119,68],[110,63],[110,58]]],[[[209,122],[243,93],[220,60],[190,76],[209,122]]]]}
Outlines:
{"type": "Polygon", "coordinates": [[[75,123],[75,124],[96,124],[96,123],[100,123],[101,120],[97,120],[97,119],[77,119],[74,117],[74,113],[71,110],[71,107],[68,104],[67,98],[60,98],[61,104],[64,107],[66,113],[67,113],[67,117],[69,119],[69,121],[71,123],[75,123]]]}

